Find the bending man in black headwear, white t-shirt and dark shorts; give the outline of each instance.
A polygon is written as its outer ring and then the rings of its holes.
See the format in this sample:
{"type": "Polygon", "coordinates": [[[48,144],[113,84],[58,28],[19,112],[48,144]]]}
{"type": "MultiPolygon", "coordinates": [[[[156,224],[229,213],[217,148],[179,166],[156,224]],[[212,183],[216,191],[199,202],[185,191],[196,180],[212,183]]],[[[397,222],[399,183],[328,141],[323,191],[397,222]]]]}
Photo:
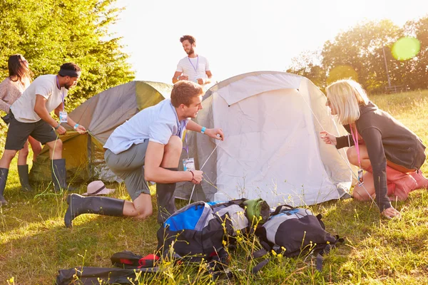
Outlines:
{"type": "Polygon", "coordinates": [[[50,113],[55,110],[61,123],[68,123],[78,133],[86,133],[82,125],[76,124],[68,117],[64,109],[64,99],[68,89],[75,86],[81,76],[81,69],[75,63],[64,63],[58,75],[39,76],[31,83],[21,97],[11,105],[9,130],[6,137],[6,146],[0,159],[0,205],[7,204],[3,192],[6,187],[9,165],[16,152],[24,147],[29,136],[46,144],[52,160],[52,181],[55,191],[67,188],[66,161],[61,158],[62,142],[59,135],[66,133],[50,113]]]}

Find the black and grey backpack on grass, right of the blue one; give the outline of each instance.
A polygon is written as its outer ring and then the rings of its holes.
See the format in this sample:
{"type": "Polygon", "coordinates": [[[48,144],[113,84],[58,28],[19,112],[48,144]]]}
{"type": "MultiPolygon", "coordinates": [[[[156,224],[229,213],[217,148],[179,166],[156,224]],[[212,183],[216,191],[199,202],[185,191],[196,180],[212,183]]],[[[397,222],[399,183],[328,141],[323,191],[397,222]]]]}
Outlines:
{"type": "MultiPolygon", "coordinates": [[[[344,242],[338,236],[325,231],[321,214],[315,216],[309,209],[281,205],[270,214],[269,219],[258,227],[255,235],[263,249],[253,257],[263,257],[272,251],[285,257],[297,257],[302,253],[317,254],[317,270],[322,269],[322,255],[330,252],[337,242],[344,242]]],[[[265,259],[253,268],[258,272],[270,259],[265,259]]]]}

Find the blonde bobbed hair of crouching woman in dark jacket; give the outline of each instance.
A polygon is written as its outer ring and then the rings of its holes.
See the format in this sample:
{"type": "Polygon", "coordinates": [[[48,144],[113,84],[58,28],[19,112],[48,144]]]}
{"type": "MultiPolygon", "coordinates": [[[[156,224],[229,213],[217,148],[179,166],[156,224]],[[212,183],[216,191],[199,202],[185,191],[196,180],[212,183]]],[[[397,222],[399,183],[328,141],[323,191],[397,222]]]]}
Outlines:
{"type": "Polygon", "coordinates": [[[355,123],[360,118],[360,105],[367,105],[369,98],[360,83],[342,79],[327,86],[327,100],[330,108],[337,112],[342,125],[355,123]]]}

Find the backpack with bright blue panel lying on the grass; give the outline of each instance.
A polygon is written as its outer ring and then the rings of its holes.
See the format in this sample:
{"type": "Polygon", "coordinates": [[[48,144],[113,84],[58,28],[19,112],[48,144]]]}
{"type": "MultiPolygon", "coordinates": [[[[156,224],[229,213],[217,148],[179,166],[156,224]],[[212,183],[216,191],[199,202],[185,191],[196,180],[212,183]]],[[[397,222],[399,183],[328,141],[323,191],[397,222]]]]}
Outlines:
{"type": "Polygon", "coordinates": [[[228,202],[194,202],[172,214],[158,229],[158,252],[163,258],[183,261],[207,261],[210,270],[223,270],[228,265],[228,252],[223,245],[225,234],[235,235],[248,227],[244,200],[228,202]]]}

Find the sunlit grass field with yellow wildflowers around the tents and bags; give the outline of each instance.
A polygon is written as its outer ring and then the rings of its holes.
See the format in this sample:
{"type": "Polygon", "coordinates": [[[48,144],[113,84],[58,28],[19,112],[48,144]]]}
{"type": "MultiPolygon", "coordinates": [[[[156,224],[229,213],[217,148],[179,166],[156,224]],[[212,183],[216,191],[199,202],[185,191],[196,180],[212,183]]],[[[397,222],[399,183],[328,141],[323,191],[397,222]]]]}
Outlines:
{"type": "MultiPolygon", "coordinates": [[[[428,145],[428,90],[371,99],[428,145]]],[[[422,170],[428,172],[427,164],[422,170]]],[[[0,207],[0,284],[54,284],[58,269],[111,267],[109,258],[115,252],[146,255],[156,250],[156,215],[141,222],[86,214],[74,220],[73,229],[66,229],[67,193],[55,195],[41,187],[36,194],[20,192],[15,160],[9,173],[5,192],[9,205],[0,207]]],[[[113,187],[113,197],[129,199],[123,185],[113,187]]],[[[86,185],[80,192],[86,192],[86,185]]],[[[346,240],[325,258],[321,272],[315,270],[312,259],[275,257],[253,276],[252,261],[246,257],[258,244],[243,239],[232,253],[230,270],[235,278],[217,283],[428,284],[428,191],[414,191],[407,201],[394,202],[394,207],[402,212],[401,220],[382,219],[373,204],[352,199],[310,206],[323,215],[328,232],[346,240]]],[[[160,273],[141,276],[135,284],[210,282],[204,266],[164,262],[161,268],[160,273]]]]}

